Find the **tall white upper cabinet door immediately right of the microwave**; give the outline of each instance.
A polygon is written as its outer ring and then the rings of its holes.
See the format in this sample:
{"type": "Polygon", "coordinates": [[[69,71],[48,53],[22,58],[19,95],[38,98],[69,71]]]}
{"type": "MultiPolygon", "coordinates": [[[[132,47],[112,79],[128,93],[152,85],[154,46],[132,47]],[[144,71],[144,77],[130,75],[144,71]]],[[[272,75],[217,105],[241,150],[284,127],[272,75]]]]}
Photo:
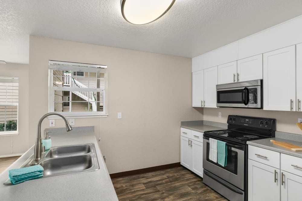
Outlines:
{"type": "Polygon", "coordinates": [[[263,109],[295,111],[296,47],[263,54],[263,109]]]}

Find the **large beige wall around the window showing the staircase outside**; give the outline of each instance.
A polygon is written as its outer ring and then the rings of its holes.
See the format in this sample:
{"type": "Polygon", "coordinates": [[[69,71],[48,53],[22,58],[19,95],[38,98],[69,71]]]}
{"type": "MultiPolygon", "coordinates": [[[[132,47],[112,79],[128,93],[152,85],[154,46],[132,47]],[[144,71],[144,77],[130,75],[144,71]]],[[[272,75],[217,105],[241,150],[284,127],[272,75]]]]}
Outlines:
{"type": "Polygon", "coordinates": [[[108,118],[76,119],[75,126],[95,126],[110,173],[180,161],[180,121],[203,118],[191,106],[191,58],[30,36],[29,145],[48,112],[48,60],[108,65],[108,118]]]}

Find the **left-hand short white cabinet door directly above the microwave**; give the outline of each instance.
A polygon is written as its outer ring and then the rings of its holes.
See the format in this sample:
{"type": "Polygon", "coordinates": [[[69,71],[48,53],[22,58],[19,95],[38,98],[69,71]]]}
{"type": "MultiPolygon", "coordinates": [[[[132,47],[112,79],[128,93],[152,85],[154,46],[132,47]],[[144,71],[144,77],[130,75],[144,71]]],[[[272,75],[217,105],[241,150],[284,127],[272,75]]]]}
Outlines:
{"type": "Polygon", "coordinates": [[[218,66],[218,84],[236,82],[237,80],[237,61],[218,66]]]}

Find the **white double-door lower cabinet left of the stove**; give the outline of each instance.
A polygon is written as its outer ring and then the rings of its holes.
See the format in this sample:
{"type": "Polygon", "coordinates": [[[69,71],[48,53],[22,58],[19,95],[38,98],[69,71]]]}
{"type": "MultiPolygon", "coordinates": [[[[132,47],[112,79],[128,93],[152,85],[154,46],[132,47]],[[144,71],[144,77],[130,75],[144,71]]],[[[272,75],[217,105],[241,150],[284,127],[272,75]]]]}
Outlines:
{"type": "Polygon", "coordinates": [[[203,133],[192,130],[192,138],[180,136],[180,164],[203,177],[203,133]]]}

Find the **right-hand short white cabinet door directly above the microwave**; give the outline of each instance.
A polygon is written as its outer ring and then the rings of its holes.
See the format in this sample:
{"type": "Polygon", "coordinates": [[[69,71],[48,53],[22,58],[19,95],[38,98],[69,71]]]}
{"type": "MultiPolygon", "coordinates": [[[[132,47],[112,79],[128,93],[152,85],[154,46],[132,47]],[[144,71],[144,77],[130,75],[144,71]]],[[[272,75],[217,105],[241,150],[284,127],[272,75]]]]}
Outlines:
{"type": "Polygon", "coordinates": [[[262,54],[237,61],[237,82],[262,79],[262,54]]]}

